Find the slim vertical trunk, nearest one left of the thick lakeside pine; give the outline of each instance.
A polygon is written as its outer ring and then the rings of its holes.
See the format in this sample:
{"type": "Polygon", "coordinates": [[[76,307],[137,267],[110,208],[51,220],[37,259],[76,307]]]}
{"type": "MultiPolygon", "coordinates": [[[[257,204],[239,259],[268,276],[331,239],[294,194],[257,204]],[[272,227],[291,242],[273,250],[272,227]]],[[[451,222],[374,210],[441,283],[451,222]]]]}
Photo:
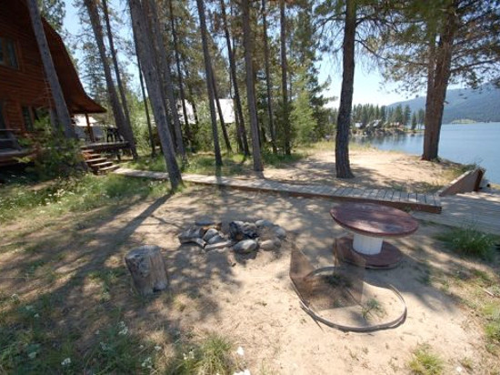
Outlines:
{"type": "Polygon", "coordinates": [[[280,39],[281,39],[281,86],[283,95],[283,130],[285,136],[285,155],[292,154],[292,132],[290,129],[290,108],[288,105],[288,64],[286,61],[286,18],[285,0],[279,1],[280,39]]]}

